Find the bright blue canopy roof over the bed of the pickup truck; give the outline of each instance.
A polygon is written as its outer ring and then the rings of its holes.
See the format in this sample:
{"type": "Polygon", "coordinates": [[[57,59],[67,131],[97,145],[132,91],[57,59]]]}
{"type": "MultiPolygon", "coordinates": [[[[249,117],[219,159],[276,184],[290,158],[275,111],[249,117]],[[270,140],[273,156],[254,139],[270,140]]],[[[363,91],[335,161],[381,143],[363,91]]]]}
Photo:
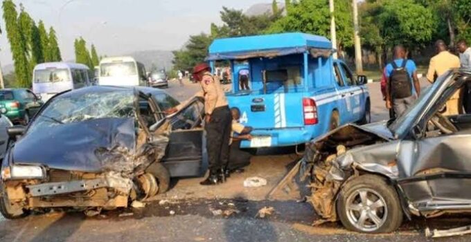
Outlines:
{"type": "Polygon", "coordinates": [[[332,50],[326,37],[301,32],[215,39],[209,46],[208,60],[273,57],[304,53],[307,50],[332,50]]]}

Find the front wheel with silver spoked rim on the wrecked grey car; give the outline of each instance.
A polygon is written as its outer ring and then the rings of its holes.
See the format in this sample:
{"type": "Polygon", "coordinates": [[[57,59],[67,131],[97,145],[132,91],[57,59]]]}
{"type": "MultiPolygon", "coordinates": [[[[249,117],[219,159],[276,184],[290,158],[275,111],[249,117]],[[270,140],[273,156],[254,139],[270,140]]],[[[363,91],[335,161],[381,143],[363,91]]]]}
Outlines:
{"type": "Polygon", "coordinates": [[[348,229],[364,233],[389,233],[402,223],[402,207],[396,190],[384,178],[363,175],[341,189],[337,214],[348,229]]]}

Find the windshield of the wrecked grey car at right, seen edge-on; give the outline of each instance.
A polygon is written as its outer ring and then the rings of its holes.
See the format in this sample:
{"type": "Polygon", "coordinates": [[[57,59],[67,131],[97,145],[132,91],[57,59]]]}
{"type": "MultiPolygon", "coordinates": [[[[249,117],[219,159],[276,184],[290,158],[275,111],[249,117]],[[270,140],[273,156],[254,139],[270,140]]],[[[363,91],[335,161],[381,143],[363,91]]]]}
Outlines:
{"type": "Polygon", "coordinates": [[[413,125],[416,121],[417,115],[419,115],[420,112],[425,109],[427,104],[432,102],[434,94],[441,88],[448,77],[450,77],[450,73],[451,71],[438,77],[432,86],[430,86],[428,89],[425,89],[423,93],[420,93],[420,97],[418,97],[416,102],[414,102],[414,104],[412,104],[412,106],[410,106],[404,114],[402,114],[391,125],[389,125],[389,129],[391,132],[393,132],[394,136],[400,138],[404,136],[407,131],[409,131],[411,125],[413,125]]]}

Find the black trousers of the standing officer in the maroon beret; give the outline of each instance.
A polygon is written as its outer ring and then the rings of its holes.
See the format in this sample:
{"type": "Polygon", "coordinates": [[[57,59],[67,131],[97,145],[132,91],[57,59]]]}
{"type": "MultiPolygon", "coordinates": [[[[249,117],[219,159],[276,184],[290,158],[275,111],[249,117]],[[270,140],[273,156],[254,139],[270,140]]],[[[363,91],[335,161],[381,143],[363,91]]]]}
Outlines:
{"type": "Polygon", "coordinates": [[[225,169],[229,162],[229,138],[231,138],[231,111],[229,106],[214,109],[211,121],[204,124],[209,171],[216,174],[225,169]]]}

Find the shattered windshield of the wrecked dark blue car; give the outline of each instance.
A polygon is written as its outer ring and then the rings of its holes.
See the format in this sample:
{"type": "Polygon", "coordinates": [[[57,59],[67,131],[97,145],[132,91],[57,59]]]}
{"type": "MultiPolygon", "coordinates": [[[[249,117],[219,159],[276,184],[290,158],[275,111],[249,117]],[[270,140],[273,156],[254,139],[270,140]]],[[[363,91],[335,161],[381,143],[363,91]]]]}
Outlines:
{"type": "Polygon", "coordinates": [[[132,91],[74,94],[66,93],[55,97],[35,118],[28,133],[71,122],[98,118],[134,117],[134,94],[132,91]]]}

